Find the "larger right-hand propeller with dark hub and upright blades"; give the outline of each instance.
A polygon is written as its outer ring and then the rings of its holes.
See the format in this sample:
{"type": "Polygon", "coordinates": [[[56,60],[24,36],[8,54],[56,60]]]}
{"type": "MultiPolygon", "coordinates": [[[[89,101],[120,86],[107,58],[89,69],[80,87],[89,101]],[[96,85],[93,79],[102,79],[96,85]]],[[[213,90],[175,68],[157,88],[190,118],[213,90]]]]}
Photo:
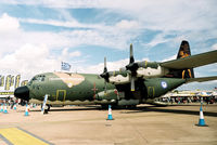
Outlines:
{"type": "Polygon", "coordinates": [[[130,80],[131,91],[135,91],[135,80],[136,80],[136,77],[137,77],[137,69],[138,68],[139,68],[138,63],[135,63],[132,44],[130,44],[129,64],[126,66],[126,69],[129,70],[129,80],[130,80]]]}

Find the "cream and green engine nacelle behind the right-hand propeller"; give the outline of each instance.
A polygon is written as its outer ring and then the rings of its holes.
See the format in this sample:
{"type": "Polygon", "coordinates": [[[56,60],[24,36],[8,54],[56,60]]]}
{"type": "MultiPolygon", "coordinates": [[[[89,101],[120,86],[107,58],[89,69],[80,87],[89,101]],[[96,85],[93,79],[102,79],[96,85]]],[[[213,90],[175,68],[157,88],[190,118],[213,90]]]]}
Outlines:
{"type": "Polygon", "coordinates": [[[142,77],[143,79],[163,77],[169,72],[167,68],[162,67],[156,62],[139,62],[138,66],[137,77],[142,77]]]}

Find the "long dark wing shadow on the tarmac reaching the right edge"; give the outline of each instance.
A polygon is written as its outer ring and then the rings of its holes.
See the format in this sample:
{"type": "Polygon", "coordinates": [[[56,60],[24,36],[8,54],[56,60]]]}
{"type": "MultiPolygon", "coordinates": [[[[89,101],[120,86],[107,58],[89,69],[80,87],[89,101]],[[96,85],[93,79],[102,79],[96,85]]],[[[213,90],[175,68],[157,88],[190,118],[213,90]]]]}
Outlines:
{"type": "MultiPolygon", "coordinates": [[[[155,107],[155,106],[145,106],[145,107],[138,107],[136,109],[131,109],[131,111],[123,111],[122,114],[137,114],[137,113],[150,113],[150,111],[156,111],[156,113],[170,113],[170,114],[183,114],[183,115],[195,115],[199,116],[199,110],[183,110],[183,109],[170,109],[166,107],[155,107]]],[[[210,117],[217,117],[217,113],[212,111],[203,111],[204,116],[210,116],[210,117]]]]}

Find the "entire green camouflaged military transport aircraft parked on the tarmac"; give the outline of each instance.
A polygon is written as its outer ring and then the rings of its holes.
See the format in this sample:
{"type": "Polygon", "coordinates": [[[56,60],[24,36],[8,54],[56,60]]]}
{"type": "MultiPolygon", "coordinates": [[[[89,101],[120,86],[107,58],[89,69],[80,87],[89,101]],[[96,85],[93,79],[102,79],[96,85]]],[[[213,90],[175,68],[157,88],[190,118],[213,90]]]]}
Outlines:
{"type": "MultiPolygon", "coordinates": [[[[48,106],[89,105],[136,106],[154,104],[154,98],[192,81],[216,80],[217,76],[194,78],[194,67],[217,62],[217,50],[191,55],[189,42],[181,42],[177,60],[135,62],[130,44],[129,64],[118,71],[107,71],[106,58],[101,75],[74,72],[44,72],[36,75],[14,95],[30,103],[42,104],[48,94],[48,106]]],[[[49,107],[50,108],[50,107],[49,107]]]]}

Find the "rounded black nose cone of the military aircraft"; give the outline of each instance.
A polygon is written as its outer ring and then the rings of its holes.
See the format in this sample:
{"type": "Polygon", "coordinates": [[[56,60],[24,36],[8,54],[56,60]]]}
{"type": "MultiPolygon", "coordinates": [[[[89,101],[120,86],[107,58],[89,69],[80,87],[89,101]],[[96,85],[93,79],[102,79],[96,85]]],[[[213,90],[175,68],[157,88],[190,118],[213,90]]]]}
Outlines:
{"type": "Polygon", "coordinates": [[[29,89],[27,87],[16,88],[14,91],[14,95],[18,98],[28,101],[29,100],[29,89]]]}

